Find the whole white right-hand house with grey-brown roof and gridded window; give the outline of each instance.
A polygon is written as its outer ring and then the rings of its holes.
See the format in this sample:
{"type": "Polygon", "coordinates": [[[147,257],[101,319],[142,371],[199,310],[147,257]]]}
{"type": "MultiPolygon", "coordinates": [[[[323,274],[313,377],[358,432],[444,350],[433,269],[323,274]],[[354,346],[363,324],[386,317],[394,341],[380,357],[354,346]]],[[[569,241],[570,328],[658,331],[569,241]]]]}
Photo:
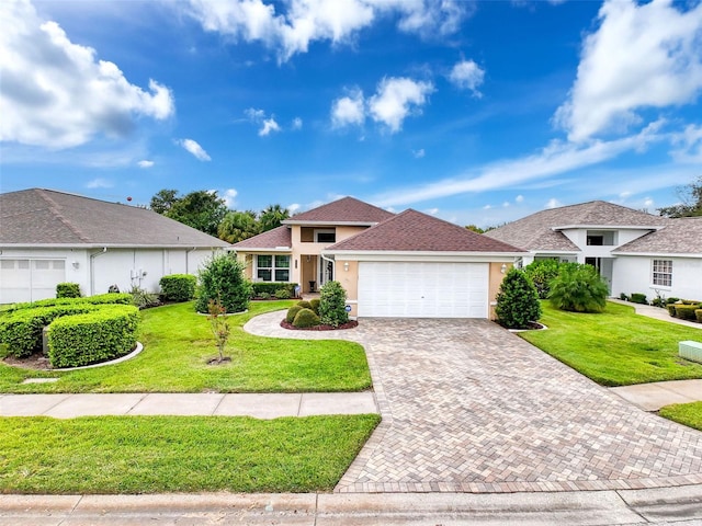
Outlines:
{"type": "Polygon", "coordinates": [[[598,268],[612,296],[702,299],[702,222],[602,201],[542,210],[485,233],[529,252],[598,268]]]}

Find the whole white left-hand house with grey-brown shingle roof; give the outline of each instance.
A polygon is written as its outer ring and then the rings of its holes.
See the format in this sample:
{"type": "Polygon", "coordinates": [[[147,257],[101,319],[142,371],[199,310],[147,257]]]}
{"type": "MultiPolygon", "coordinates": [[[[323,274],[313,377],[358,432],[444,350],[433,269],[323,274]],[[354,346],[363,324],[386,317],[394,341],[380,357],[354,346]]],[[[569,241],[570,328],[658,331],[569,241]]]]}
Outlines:
{"type": "Polygon", "coordinates": [[[55,297],[72,282],[83,295],[159,290],[161,276],[197,272],[230,244],[145,208],[50,190],[0,194],[0,304],[55,297]]]}

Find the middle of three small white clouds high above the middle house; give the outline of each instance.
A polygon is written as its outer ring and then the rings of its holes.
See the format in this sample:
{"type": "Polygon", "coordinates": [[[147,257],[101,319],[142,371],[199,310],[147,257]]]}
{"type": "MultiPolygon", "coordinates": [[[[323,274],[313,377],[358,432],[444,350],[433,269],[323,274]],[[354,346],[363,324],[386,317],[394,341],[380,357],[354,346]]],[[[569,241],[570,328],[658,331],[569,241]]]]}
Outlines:
{"type": "Polygon", "coordinates": [[[369,100],[369,113],[375,122],[386,125],[390,133],[399,132],[408,115],[421,113],[421,106],[433,91],[431,82],[406,77],[384,78],[376,94],[369,100]]]}

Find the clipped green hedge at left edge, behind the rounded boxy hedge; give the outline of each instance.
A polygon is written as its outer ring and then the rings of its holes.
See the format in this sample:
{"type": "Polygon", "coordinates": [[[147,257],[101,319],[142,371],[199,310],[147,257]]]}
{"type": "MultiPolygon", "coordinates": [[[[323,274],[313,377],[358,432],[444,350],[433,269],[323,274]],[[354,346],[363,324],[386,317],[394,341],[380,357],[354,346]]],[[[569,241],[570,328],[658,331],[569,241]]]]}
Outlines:
{"type": "Polygon", "coordinates": [[[5,313],[0,318],[0,343],[8,346],[11,356],[22,358],[42,348],[42,330],[55,319],[97,310],[86,302],[36,307],[5,313]]]}

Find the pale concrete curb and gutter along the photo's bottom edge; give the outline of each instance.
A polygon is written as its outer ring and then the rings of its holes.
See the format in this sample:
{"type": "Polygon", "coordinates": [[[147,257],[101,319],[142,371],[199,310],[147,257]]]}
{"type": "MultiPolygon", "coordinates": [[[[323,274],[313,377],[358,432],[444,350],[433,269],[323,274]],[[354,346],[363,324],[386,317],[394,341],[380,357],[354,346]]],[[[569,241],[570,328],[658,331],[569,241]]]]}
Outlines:
{"type": "Polygon", "coordinates": [[[509,494],[0,495],[0,525],[702,524],[702,487],[509,494]]]}

